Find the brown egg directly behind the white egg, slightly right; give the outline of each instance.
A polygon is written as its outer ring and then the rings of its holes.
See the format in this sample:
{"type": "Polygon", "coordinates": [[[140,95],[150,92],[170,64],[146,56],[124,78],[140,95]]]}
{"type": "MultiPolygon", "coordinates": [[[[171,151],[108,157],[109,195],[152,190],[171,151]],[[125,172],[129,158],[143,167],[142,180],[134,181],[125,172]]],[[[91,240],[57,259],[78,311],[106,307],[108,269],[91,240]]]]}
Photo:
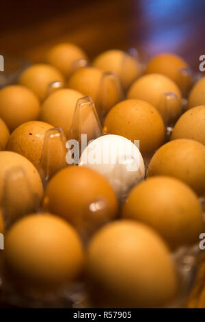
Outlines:
{"type": "Polygon", "coordinates": [[[165,126],[159,112],[145,101],[127,99],[113,106],[105,118],[105,132],[139,140],[146,156],[163,145],[165,126]]]}

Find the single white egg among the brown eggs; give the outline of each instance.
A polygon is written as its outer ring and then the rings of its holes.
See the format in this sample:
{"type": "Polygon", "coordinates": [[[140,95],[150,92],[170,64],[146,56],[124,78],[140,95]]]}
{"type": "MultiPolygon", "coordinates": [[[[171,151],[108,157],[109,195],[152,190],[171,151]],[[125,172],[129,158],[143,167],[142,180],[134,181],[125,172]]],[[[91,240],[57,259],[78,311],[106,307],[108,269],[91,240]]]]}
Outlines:
{"type": "Polygon", "coordinates": [[[137,145],[118,135],[96,138],[83,151],[79,166],[88,166],[104,175],[119,199],[145,175],[143,158],[137,145]]]}

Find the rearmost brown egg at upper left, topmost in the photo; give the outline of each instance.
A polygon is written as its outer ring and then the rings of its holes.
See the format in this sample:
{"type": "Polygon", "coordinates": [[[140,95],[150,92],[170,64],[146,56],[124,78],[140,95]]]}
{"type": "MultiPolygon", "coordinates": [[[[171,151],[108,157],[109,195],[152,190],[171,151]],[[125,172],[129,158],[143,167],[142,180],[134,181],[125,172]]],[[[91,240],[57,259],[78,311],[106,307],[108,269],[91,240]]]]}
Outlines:
{"type": "Polygon", "coordinates": [[[85,52],[69,42],[53,46],[46,55],[46,62],[55,66],[66,77],[72,72],[74,62],[81,59],[87,60],[85,52]]]}

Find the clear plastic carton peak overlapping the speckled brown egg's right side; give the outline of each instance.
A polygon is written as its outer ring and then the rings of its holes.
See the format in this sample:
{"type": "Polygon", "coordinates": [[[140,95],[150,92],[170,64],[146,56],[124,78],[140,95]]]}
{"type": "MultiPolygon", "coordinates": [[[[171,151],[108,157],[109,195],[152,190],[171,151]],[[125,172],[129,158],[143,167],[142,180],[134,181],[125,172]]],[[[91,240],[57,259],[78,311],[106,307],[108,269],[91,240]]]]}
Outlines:
{"type": "Polygon", "coordinates": [[[49,182],[49,179],[57,171],[68,166],[66,162],[66,154],[68,153],[66,146],[66,136],[61,127],[53,127],[46,131],[44,137],[44,145],[42,156],[38,164],[38,172],[42,178],[43,185],[49,182]]]}

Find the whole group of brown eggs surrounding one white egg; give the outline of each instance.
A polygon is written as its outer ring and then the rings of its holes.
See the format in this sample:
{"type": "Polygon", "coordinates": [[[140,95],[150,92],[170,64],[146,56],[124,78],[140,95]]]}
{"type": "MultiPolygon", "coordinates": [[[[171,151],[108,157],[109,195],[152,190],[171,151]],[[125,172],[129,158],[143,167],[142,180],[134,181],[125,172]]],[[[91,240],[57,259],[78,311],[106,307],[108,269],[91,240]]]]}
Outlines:
{"type": "Polygon", "coordinates": [[[9,295],[32,306],[54,294],[57,306],[81,284],[84,305],[103,308],[165,307],[178,297],[172,254],[204,230],[205,77],[191,88],[188,69],[169,53],[143,69],[120,50],[91,64],[64,43],[0,90],[9,295]],[[92,138],[84,147],[82,135],[92,138]]]}

